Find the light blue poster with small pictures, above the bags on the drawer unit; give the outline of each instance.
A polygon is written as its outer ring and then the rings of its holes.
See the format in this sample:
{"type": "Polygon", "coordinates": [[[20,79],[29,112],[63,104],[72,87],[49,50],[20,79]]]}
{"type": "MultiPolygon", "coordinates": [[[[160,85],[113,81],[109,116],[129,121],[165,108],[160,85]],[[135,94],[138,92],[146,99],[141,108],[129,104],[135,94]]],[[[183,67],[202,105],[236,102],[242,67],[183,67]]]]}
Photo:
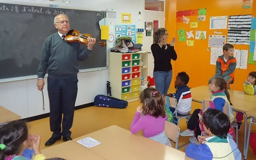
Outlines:
{"type": "Polygon", "coordinates": [[[135,25],[116,25],[116,38],[128,36],[136,44],[136,27],[135,25]]]}

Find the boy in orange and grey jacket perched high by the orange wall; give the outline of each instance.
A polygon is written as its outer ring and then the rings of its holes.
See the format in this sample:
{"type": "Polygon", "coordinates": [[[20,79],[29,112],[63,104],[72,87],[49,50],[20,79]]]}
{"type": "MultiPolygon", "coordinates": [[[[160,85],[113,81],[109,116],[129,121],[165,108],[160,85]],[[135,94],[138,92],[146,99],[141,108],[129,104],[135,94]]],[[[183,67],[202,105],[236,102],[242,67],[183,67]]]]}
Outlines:
{"type": "Polygon", "coordinates": [[[212,79],[216,77],[222,77],[229,86],[230,83],[234,82],[236,69],[236,58],[234,55],[234,46],[231,44],[225,44],[223,46],[224,54],[219,56],[216,61],[216,74],[209,80],[209,84],[212,79]]]}

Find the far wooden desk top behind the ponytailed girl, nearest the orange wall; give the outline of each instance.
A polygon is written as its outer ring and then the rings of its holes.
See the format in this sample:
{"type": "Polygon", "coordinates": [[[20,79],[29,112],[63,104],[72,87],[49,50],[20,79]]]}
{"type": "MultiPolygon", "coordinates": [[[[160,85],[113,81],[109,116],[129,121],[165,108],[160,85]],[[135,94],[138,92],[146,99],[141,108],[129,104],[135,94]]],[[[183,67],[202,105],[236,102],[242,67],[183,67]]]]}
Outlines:
{"type": "MultiPolygon", "coordinates": [[[[194,93],[194,94],[199,92],[211,94],[209,86],[206,86],[206,85],[191,88],[190,90],[191,90],[191,93],[194,93]]],[[[229,90],[231,99],[240,99],[244,101],[256,102],[256,95],[247,95],[245,92],[242,92],[242,91],[230,90],[230,89],[228,90],[229,90]]],[[[192,95],[192,98],[193,98],[193,95],[192,95]]]]}

